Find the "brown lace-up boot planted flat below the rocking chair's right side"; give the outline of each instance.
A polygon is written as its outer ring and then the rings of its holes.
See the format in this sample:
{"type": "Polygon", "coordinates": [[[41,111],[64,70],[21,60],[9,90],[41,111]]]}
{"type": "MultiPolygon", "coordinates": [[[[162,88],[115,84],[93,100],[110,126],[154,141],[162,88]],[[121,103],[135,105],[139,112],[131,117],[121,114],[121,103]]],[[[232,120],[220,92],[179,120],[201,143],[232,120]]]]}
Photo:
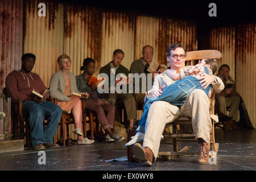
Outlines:
{"type": "Polygon", "coordinates": [[[198,164],[208,164],[209,163],[209,148],[208,143],[204,142],[204,140],[199,140],[199,155],[198,155],[198,164]]]}

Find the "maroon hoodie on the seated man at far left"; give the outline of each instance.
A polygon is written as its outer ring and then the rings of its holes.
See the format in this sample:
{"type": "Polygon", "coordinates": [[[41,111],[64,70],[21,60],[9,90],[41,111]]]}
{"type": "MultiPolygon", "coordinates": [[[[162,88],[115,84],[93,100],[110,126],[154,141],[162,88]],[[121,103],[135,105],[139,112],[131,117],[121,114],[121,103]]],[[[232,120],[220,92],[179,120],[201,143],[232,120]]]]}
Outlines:
{"type": "MultiPolygon", "coordinates": [[[[13,71],[6,77],[7,93],[14,100],[31,101],[30,96],[32,90],[43,94],[46,86],[36,73],[28,73],[25,75],[20,71],[13,71]]],[[[49,92],[44,95],[46,100],[49,99],[49,92]]]]}

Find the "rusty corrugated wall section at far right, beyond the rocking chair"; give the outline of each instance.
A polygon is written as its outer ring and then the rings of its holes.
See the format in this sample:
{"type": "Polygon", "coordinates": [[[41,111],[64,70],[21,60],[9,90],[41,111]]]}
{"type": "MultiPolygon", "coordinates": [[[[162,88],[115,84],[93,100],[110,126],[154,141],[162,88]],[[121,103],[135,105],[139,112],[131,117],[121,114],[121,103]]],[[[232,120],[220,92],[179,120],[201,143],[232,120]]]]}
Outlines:
{"type": "Polygon", "coordinates": [[[222,53],[218,67],[228,64],[230,75],[237,80],[236,89],[245,102],[256,127],[256,32],[255,23],[231,27],[214,27],[200,35],[200,49],[217,49],[222,53]]]}

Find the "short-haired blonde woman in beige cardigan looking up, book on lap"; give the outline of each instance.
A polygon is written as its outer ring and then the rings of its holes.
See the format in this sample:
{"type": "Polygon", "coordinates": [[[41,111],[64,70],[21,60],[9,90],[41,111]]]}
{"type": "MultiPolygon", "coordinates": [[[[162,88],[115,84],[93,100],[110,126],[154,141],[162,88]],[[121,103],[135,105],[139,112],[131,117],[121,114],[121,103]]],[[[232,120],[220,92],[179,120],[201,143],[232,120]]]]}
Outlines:
{"type": "MultiPolygon", "coordinates": [[[[68,55],[61,55],[57,59],[60,71],[54,73],[49,82],[49,93],[52,98],[57,98],[57,105],[67,113],[73,114],[75,129],[73,133],[78,135],[78,144],[92,144],[94,140],[82,137],[82,104],[80,97],[71,96],[71,93],[80,93],[76,86],[76,77],[69,72],[71,59],[68,55]]],[[[85,131],[86,132],[86,131],[85,131]]]]}

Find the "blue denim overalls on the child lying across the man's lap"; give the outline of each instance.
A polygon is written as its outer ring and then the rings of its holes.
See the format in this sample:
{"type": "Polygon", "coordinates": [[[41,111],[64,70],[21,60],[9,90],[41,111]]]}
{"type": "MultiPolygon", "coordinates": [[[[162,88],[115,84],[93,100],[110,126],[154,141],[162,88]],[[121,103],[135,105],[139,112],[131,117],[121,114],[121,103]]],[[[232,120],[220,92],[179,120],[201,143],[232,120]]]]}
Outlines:
{"type": "Polygon", "coordinates": [[[198,80],[196,77],[186,76],[182,80],[178,80],[174,84],[163,88],[163,93],[159,97],[151,97],[148,99],[144,105],[143,114],[141,120],[139,121],[137,132],[145,133],[148,110],[153,102],[166,101],[173,105],[181,106],[185,103],[185,100],[189,94],[191,94],[191,92],[195,89],[204,90],[204,92],[208,95],[212,86],[209,85],[207,89],[204,89],[204,87],[201,87],[203,83],[200,84],[199,82],[200,80],[198,80]]]}

